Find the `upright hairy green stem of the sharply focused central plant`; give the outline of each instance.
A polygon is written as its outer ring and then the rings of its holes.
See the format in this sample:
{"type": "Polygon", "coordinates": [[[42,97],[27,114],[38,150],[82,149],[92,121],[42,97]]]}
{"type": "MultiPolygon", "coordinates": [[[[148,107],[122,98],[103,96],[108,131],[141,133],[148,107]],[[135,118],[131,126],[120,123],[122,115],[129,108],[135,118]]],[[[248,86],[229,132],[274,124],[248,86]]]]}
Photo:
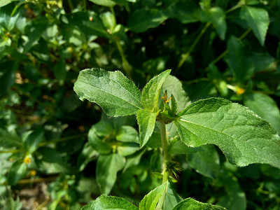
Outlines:
{"type": "MultiPolygon", "coordinates": [[[[168,154],[167,125],[164,122],[160,122],[160,137],[162,139],[162,152],[163,152],[162,183],[165,183],[166,181],[168,181],[168,176],[169,176],[169,173],[167,171],[167,162],[169,161],[169,154],[168,154]]],[[[165,193],[162,194],[160,200],[158,201],[158,205],[157,205],[158,209],[162,209],[164,207],[166,194],[167,194],[167,188],[165,189],[165,193]]]]}

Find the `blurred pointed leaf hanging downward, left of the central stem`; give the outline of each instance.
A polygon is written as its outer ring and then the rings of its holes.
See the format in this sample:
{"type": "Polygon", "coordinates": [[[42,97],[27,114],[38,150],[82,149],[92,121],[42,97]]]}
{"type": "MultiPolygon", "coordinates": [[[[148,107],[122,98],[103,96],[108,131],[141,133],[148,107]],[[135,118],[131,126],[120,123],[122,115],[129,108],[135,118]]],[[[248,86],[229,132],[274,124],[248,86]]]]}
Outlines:
{"type": "Polygon", "coordinates": [[[117,173],[125,166],[125,158],[118,153],[100,155],[97,160],[97,183],[102,193],[108,195],[117,179],[117,173]]]}

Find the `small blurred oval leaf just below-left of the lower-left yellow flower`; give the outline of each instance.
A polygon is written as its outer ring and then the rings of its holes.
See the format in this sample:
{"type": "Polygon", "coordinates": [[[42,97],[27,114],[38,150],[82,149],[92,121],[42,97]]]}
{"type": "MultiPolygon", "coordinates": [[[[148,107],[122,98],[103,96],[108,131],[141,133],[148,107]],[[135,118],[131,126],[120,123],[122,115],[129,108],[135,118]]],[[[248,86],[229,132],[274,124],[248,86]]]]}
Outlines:
{"type": "Polygon", "coordinates": [[[14,186],[18,181],[27,174],[27,165],[22,160],[14,162],[8,172],[8,184],[14,186]]]}

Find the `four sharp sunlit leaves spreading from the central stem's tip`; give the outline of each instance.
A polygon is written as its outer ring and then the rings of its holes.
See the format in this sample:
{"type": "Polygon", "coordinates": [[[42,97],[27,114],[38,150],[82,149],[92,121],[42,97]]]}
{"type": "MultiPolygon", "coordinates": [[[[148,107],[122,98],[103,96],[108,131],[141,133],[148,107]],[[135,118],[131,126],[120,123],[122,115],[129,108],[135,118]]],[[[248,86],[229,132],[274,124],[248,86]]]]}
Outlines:
{"type": "MultiPolygon", "coordinates": [[[[80,71],[74,91],[83,101],[99,104],[109,116],[137,115],[140,146],[151,137],[157,116],[160,89],[171,70],[152,78],[140,91],[120,71],[80,71]]],[[[178,100],[178,99],[177,99],[178,100]]],[[[202,99],[174,117],[179,136],[187,146],[215,144],[237,166],[266,163],[280,168],[280,137],[245,106],[226,99],[202,99]]]]}

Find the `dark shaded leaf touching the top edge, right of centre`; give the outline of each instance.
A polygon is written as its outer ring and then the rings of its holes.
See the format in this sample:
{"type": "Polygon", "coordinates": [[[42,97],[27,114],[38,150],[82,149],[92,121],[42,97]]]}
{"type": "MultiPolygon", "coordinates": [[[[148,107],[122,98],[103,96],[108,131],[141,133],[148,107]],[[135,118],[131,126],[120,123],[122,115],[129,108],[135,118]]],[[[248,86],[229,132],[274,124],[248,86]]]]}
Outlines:
{"type": "Polygon", "coordinates": [[[194,1],[179,1],[167,8],[165,14],[169,18],[176,18],[181,23],[187,24],[200,20],[200,6],[194,1]]]}

